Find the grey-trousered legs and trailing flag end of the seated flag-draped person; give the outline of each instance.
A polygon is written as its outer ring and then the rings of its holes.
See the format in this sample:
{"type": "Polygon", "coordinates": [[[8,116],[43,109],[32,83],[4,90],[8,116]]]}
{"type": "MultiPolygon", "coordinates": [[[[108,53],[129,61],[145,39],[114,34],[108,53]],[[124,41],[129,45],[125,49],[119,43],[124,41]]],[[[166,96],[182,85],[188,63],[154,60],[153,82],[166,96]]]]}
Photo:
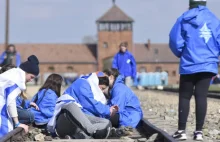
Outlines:
{"type": "Polygon", "coordinates": [[[61,138],[104,139],[108,138],[111,122],[104,118],[85,114],[82,106],[68,94],[58,98],[55,112],[49,121],[48,131],[61,138]]]}

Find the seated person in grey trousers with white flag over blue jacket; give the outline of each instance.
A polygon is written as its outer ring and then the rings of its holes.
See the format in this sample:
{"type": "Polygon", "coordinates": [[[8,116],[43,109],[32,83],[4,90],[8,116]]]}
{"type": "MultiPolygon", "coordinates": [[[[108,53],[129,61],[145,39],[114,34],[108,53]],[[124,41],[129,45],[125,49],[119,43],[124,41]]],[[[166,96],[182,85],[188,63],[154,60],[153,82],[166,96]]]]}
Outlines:
{"type": "Polygon", "coordinates": [[[106,99],[102,90],[108,85],[109,80],[104,76],[103,72],[91,73],[88,76],[77,79],[66,89],[64,95],[58,99],[54,116],[48,123],[48,130],[51,133],[57,131],[57,134],[61,137],[70,135],[72,138],[79,138],[76,130],[69,131],[69,129],[64,129],[64,126],[76,123],[77,126],[73,127],[73,129],[79,127],[87,136],[107,138],[111,123],[109,120],[99,117],[110,117],[116,112],[115,106],[109,107],[105,105],[106,99]],[[68,104],[70,102],[74,103],[68,104]],[[66,114],[66,112],[68,113],[66,114]],[[68,115],[68,119],[63,116],[64,114],[66,117],[68,115]],[[65,125],[60,125],[61,123],[59,122],[64,122],[64,120],[66,120],[65,125]]]}

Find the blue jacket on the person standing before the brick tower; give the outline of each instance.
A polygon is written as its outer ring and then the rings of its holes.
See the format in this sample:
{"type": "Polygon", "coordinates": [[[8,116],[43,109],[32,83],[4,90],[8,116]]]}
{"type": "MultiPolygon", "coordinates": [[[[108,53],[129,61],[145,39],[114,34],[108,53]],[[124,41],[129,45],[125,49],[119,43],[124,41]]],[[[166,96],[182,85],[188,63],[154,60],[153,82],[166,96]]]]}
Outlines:
{"type": "Polygon", "coordinates": [[[136,61],[129,51],[125,53],[118,52],[114,56],[112,68],[118,69],[120,74],[125,77],[131,76],[133,79],[136,78],[136,61]]]}

